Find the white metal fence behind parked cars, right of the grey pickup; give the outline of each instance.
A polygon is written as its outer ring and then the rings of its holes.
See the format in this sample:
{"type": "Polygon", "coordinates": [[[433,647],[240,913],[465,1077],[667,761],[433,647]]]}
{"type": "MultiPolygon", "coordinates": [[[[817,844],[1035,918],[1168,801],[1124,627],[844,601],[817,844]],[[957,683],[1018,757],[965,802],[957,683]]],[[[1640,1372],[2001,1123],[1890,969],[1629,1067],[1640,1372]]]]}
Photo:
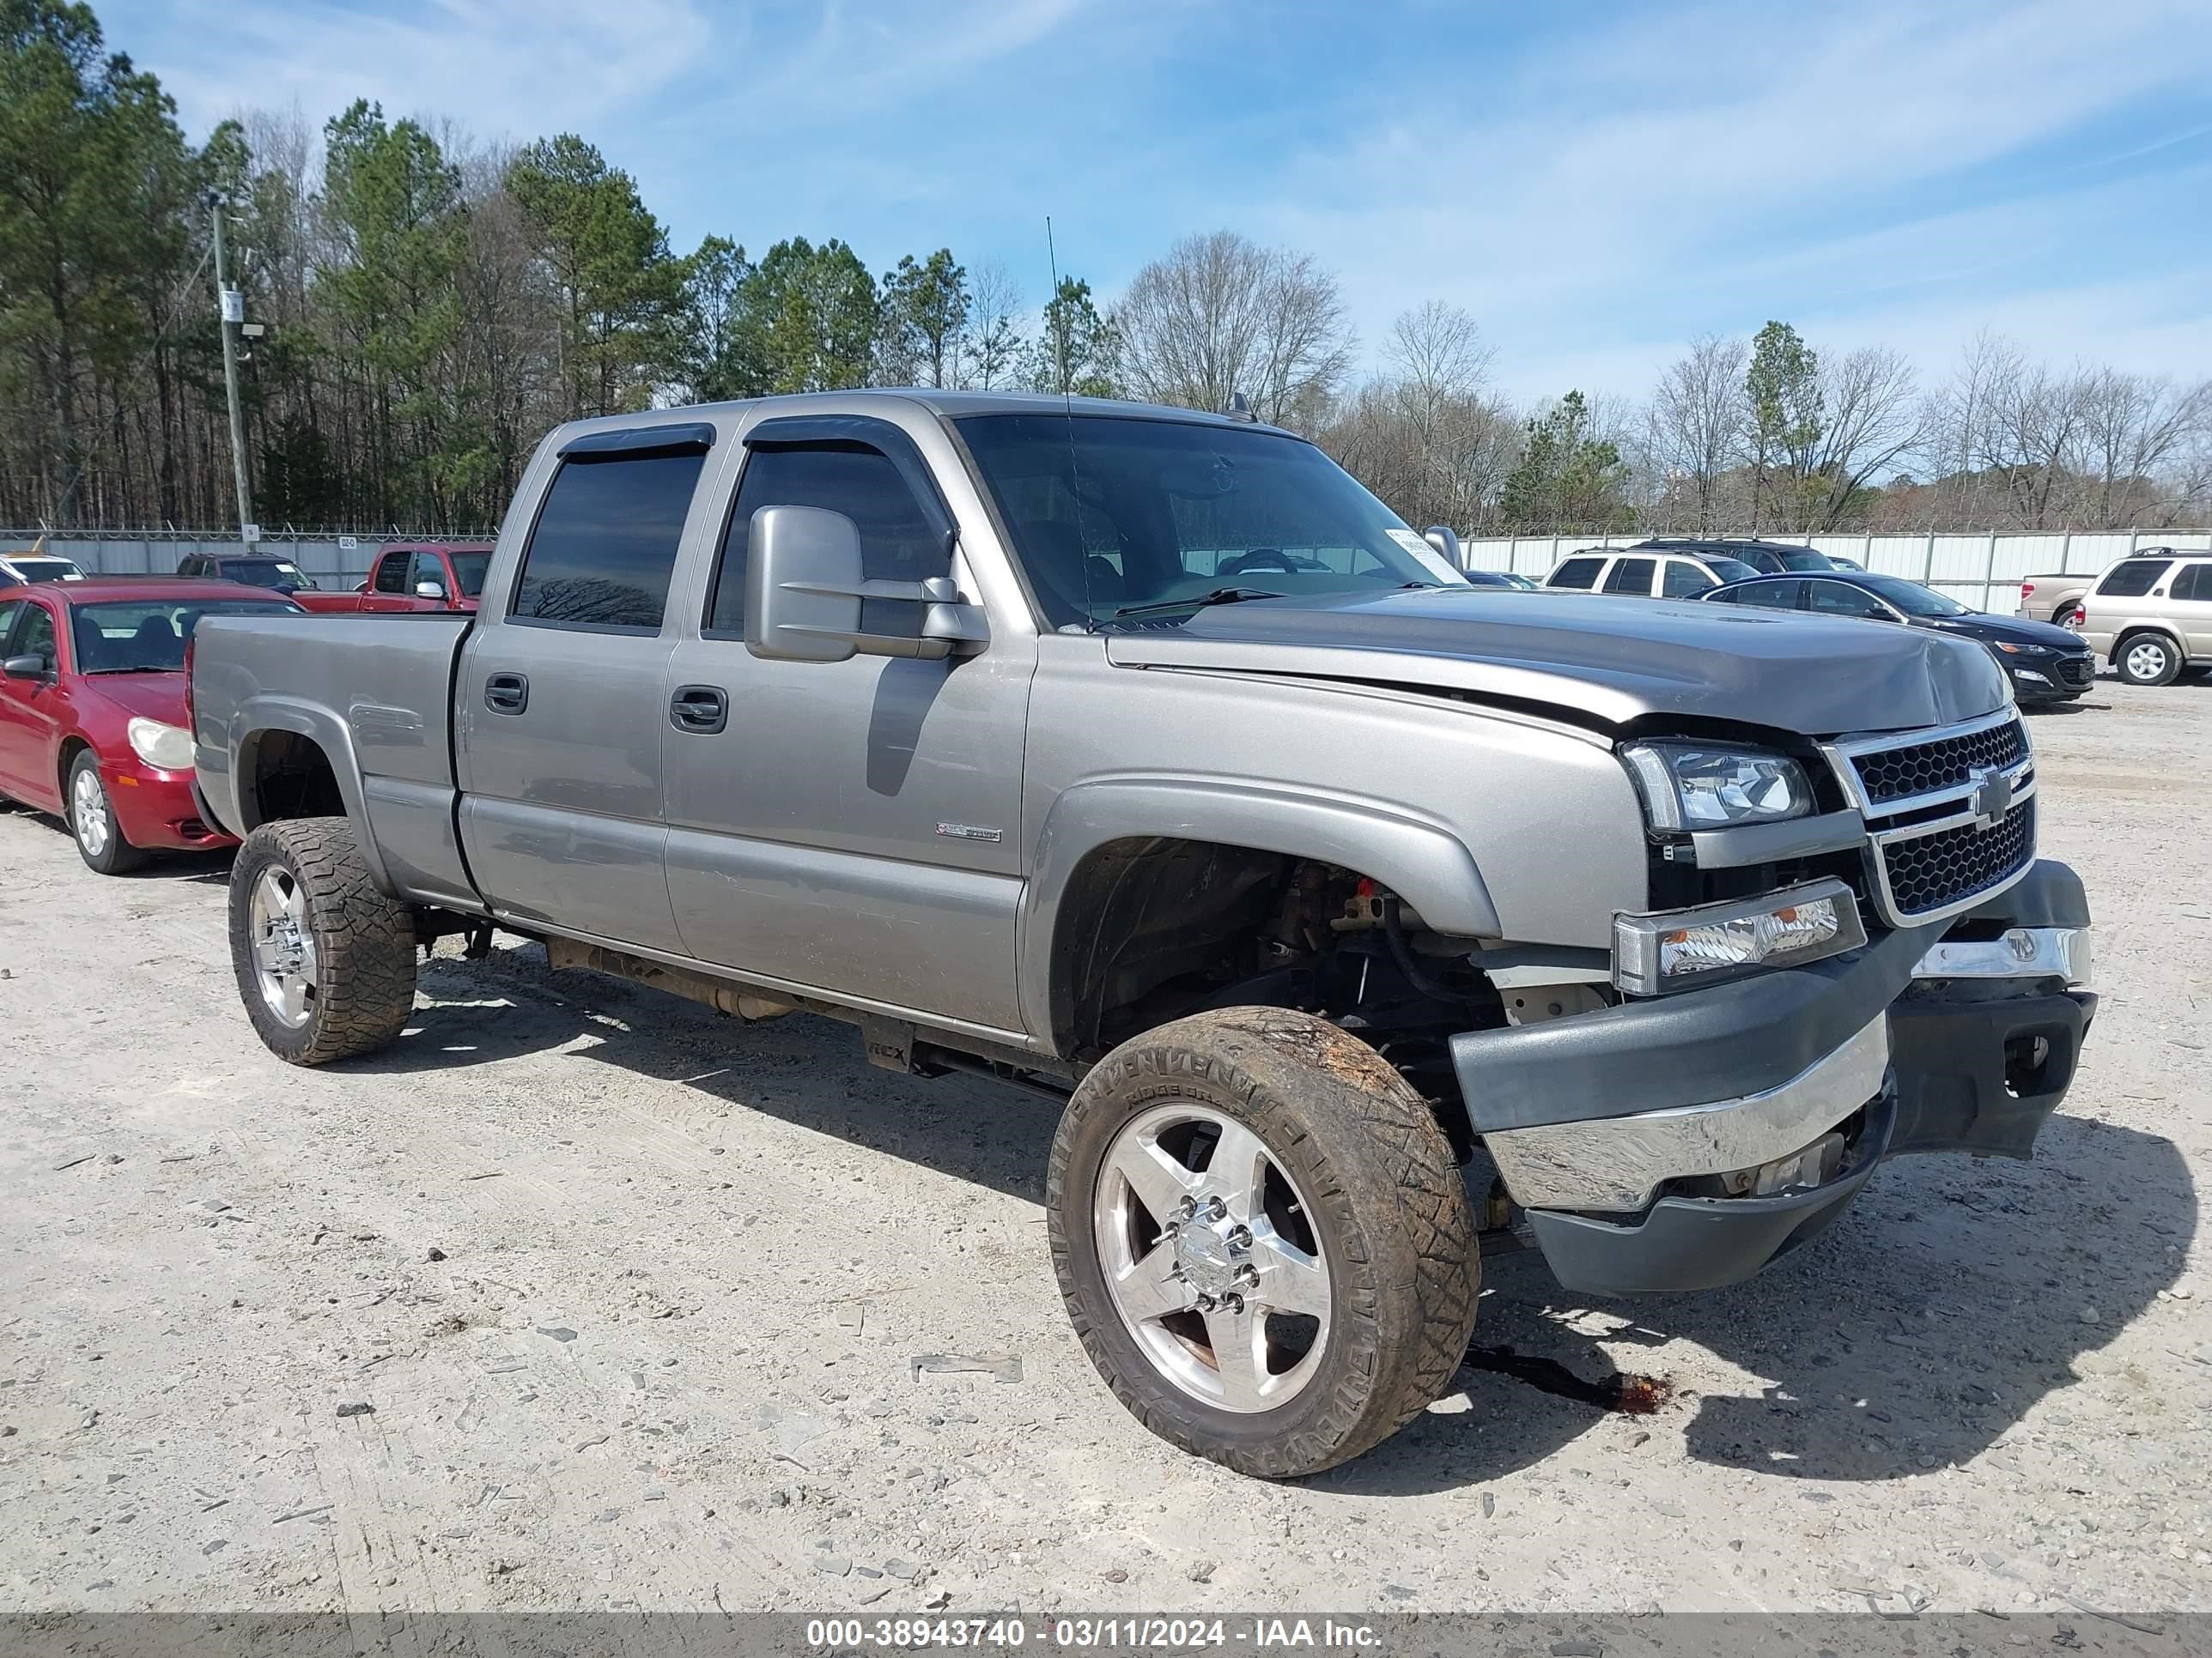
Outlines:
{"type": "MultiPolygon", "coordinates": [[[[1630,546],[1641,535],[1517,535],[1462,542],[1469,570],[1515,570],[1542,579],[1568,553],[1586,546],[1630,546]]],[[[2057,570],[2095,575],[2143,546],[2212,546],[2212,531],[2108,531],[2008,535],[1776,535],[1856,559],[1880,575],[1902,575],[1949,592],[1975,610],[2011,615],[2020,579],[2057,570]]]]}

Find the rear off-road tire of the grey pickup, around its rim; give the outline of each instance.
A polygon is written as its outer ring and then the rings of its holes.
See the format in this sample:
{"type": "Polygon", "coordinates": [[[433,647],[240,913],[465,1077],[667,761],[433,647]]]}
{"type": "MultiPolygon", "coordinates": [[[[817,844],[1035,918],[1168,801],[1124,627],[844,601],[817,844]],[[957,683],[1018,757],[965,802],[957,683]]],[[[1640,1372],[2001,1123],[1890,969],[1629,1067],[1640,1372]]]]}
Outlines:
{"type": "Polygon", "coordinates": [[[376,891],[349,820],[265,822],[246,836],[230,867],[230,966],[246,1017],[279,1059],[325,1066],[376,1052],[400,1035],[414,1010],[414,911],[376,891]],[[314,931],[316,997],[299,1028],[285,1026],[263,1001],[254,964],[250,904],[270,864],[290,869],[305,891],[314,931]]]}

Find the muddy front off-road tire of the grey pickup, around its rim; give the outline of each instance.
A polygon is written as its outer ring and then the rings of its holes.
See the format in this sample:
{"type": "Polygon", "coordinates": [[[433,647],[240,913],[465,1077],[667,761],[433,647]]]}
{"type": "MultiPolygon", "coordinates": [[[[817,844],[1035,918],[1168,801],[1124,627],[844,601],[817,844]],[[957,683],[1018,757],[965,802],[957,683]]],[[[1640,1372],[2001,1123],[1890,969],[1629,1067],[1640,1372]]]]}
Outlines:
{"type": "Polygon", "coordinates": [[[1283,1008],[1221,1008],[1148,1030],[1084,1077],[1044,1178],[1060,1293],[1106,1386],[1146,1428],[1243,1475],[1294,1479],[1374,1448],[1467,1357],[1480,1253],[1436,1114],[1374,1048],[1283,1008]],[[1192,1099],[1250,1127],[1292,1174],[1329,1262],[1321,1371],[1285,1404],[1230,1413],[1168,1382],[1106,1289],[1093,1198],[1119,1130],[1192,1099]]]}

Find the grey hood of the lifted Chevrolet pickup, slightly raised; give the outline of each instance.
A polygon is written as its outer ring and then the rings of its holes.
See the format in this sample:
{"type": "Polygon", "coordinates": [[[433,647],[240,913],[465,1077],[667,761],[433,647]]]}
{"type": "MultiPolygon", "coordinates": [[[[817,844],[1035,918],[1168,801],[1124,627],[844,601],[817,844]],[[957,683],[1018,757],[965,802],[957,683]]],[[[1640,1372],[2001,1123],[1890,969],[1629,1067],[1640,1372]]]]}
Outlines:
{"type": "Polygon", "coordinates": [[[1924,628],[1493,588],[1214,606],[1179,628],[1108,634],[1106,657],[1453,690],[1608,725],[1701,716],[1805,736],[1951,725],[2011,696],[1989,650],[1924,628]]]}

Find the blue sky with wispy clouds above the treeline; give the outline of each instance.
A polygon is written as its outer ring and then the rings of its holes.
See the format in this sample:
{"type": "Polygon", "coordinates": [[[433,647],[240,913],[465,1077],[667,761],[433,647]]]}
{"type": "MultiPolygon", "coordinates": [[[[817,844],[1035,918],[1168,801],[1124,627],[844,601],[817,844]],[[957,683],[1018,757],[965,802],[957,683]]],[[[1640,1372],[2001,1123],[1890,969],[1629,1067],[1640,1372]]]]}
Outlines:
{"type": "Polygon", "coordinates": [[[2212,374],[2205,0],[106,0],[195,135],[352,97],[577,130],[677,248],[951,245],[1110,294],[1177,237],[1316,254],[1365,343],[1469,307],[1515,398],[1794,321],[2212,374]]]}

